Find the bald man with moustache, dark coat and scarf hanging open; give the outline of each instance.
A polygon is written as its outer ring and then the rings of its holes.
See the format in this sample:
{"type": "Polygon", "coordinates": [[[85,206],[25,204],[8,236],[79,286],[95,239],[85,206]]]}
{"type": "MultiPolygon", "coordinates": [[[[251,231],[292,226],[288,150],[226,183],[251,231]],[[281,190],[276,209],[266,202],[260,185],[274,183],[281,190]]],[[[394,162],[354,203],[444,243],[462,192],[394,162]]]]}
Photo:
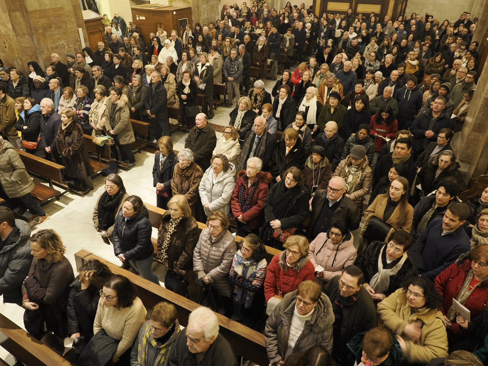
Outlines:
{"type": "Polygon", "coordinates": [[[266,120],[262,116],[254,119],[254,129],[248,131],[244,137],[241,150],[239,171],[245,169],[247,159],[259,158],[263,161],[263,171],[267,171],[273,156],[276,138],[266,131],[266,120]]]}

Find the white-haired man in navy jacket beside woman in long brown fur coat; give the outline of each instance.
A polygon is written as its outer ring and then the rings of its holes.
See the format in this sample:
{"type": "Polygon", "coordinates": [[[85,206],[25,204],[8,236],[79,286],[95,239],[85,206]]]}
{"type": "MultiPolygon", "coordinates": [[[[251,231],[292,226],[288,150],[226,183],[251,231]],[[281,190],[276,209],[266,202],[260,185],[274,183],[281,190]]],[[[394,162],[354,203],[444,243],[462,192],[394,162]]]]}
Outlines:
{"type": "MultiPolygon", "coordinates": [[[[53,80],[51,80],[53,81],[53,80]]],[[[44,150],[44,159],[61,164],[61,157],[56,147],[56,136],[61,124],[61,116],[54,110],[54,103],[49,98],[41,101],[41,146],[44,150]]]]}

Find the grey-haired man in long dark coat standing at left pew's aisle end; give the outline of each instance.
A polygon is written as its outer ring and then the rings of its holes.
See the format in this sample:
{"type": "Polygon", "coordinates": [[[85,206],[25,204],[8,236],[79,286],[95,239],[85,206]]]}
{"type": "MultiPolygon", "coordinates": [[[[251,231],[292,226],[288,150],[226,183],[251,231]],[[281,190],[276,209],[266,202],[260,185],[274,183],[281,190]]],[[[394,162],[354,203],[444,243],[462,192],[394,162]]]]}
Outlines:
{"type": "Polygon", "coordinates": [[[161,74],[158,71],[152,72],[151,81],[152,86],[146,90],[144,104],[146,106],[146,113],[151,119],[154,132],[156,133],[156,141],[158,141],[161,136],[170,136],[167,92],[161,82],[161,74]]]}

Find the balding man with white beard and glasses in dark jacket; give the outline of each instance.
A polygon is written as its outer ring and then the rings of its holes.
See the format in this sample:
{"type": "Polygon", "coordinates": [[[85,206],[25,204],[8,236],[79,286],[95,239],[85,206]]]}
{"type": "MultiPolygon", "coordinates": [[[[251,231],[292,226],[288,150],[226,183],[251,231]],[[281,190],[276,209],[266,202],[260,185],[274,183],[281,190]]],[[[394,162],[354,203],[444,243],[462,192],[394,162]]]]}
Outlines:
{"type": "Polygon", "coordinates": [[[329,230],[332,220],[346,223],[349,230],[356,230],[361,222],[359,208],[346,196],[346,182],[341,177],[332,177],[327,189],[317,189],[310,199],[311,216],[307,237],[310,241],[329,230]]]}

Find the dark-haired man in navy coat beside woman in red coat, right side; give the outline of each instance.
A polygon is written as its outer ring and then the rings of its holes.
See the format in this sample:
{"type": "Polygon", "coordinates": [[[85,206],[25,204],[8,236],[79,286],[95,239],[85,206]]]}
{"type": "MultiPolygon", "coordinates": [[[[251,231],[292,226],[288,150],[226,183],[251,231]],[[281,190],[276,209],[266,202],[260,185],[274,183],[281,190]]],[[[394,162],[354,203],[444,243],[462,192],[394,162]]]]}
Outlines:
{"type": "Polygon", "coordinates": [[[444,216],[432,220],[411,246],[409,255],[421,277],[434,280],[460,254],[469,251],[469,237],[463,229],[468,215],[466,203],[450,203],[444,216]]]}

